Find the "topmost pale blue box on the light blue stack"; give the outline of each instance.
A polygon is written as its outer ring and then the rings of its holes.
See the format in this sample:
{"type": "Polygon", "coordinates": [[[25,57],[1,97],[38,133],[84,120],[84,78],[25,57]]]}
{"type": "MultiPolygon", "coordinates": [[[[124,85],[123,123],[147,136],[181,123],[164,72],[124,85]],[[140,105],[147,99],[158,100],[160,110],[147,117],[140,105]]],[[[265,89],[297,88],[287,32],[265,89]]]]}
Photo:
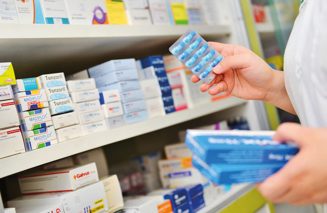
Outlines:
{"type": "Polygon", "coordinates": [[[134,58],[111,60],[88,69],[91,78],[94,78],[105,73],[116,71],[136,69],[136,61],[134,58]]]}

